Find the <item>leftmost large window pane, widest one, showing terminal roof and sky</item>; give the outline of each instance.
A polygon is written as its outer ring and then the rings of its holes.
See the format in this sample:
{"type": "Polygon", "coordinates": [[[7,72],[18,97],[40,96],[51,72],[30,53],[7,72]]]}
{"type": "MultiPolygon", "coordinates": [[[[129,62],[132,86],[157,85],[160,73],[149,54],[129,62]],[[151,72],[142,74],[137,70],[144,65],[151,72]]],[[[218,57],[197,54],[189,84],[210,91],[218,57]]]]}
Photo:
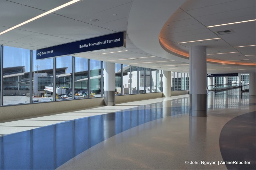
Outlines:
{"type": "Polygon", "coordinates": [[[3,47],[3,104],[30,102],[30,50],[3,47]]]}

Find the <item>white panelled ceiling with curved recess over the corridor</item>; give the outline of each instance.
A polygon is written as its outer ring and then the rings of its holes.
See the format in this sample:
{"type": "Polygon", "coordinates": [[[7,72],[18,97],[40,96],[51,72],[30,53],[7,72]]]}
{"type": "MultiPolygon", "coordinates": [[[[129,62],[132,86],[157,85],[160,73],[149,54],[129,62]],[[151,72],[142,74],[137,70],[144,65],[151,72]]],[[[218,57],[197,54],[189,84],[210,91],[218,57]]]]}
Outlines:
{"type": "MultiPolygon", "coordinates": [[[[69,1],[0,0],[0,31],[69,1]]],[[[207,55],[209,59],[249,59],[239,62],[256,62],[256,56],[244,56],[256,54],[255,46],[234,48],[234,46],[256,44],[255,22],[206,28],[209,25],[256,19],[255,0],[189,0],[184,2],[185,0],[81,0],[0,35],[0,44],[36,50],[127,31],[126,48],[109,49],[104,53],[128,51],[110,54],[100,54],[103,52],[94,51],[75,56],[188,73],[189,60],[181,55],[173,55],[173,53],[164,51],[159,43],[160,37],[173,48],[185,53],[191,45],[206,45],[208,54],[240,52],[207,55]],[[90,19],[99,21],[92,22],[90,19]],[[167,25],[169,27],[166,27],[167,25]],[[235,33],[225,35],[214,33],[227,29],[233,29],[235,33]],[[208,38],[222,39],[203,43],[177,44],[182,41],[208,38]]],[[[207,64],[207,73],[234,72],[255,72],[255,67],[207,64]]]]}

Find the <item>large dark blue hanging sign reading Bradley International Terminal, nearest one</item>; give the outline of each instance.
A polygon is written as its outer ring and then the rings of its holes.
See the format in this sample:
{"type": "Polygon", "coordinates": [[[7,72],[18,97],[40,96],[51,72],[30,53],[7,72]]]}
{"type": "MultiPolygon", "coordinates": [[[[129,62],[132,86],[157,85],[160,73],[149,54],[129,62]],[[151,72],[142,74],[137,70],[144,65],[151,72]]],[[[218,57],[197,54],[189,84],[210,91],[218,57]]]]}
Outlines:
{"type": "Polygon", "coordinates": [[[125,47],[125,31],[42,48],[36,50],[36,59],[52,58],[116,47],[125,47]]]}

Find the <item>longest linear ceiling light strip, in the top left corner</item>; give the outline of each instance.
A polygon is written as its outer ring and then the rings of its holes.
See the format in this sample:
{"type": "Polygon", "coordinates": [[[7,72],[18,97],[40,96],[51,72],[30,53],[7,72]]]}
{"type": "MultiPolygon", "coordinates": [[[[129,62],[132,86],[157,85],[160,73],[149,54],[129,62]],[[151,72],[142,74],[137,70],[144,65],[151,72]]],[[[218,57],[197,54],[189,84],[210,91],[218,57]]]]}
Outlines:
{"type": "Polygon", "coordinates": [[[50,14],[50,13],[53,13],[53,12],[56,11],[56,10],[59,10],[59,9],[64,8],[64,7],[66,7],[66,6],[69,6],[69,5],[73,4],[73,3],[76,3],[76,2],[78,2],[78,1],[80,1],[80,0],[73,0],[73,1],[70,1],[70,2],[65,3],[65,4],[63,4],[63,5],[60,5],[60,6],[56,7],[56,8],[53,8],[53,9],[51,9],[51,10],[49,10],[49,11],[46,11],[46,12],[43,13],[43,14],[40,14],[40,15],[34,17],[34,18],[31,18],[31,19],[29,19],[29,20],[27,20],[27,21],[24,21],[24,22],[22,22],[22,23],[20,23],[20,24],[18,24],[18,25],[15,25],[14,27],[11,27],[11,28],[9,28],[9,29],[6,29],[6,30],[3,31],[3,32],[0,32],[0,35],[1,35],[1,34],[4,34],[4,33],[6,33],[6,32],[8,32],[8,31],[11,31],[11,30],[13,30],[13,29],[15,29],[15,28],[18,28],[18,27],[20,27],[20,26],[22,26],[22,25],[24,25],[24,24],[27,24],[27,23],[29,23],[29,22],[31,22],[31,21],[34,21],[34,20],[36,20],[36,19],[38,19],[38,18],[41,18],[41,17],[43,17],[43,16],[45,16],[45,15],[48,15],[48,14],[50,14]]]}

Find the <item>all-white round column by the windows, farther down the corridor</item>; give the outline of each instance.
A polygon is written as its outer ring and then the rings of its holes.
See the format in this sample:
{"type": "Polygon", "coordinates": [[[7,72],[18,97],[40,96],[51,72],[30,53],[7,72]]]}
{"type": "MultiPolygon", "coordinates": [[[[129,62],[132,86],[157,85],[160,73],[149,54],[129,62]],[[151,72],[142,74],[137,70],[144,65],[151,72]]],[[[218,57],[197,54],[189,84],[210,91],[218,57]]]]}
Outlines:
{"type": "Polygon", "coordinates": [[[171,97],[171,72],[163,70],[163,96],[171,97]]]}

